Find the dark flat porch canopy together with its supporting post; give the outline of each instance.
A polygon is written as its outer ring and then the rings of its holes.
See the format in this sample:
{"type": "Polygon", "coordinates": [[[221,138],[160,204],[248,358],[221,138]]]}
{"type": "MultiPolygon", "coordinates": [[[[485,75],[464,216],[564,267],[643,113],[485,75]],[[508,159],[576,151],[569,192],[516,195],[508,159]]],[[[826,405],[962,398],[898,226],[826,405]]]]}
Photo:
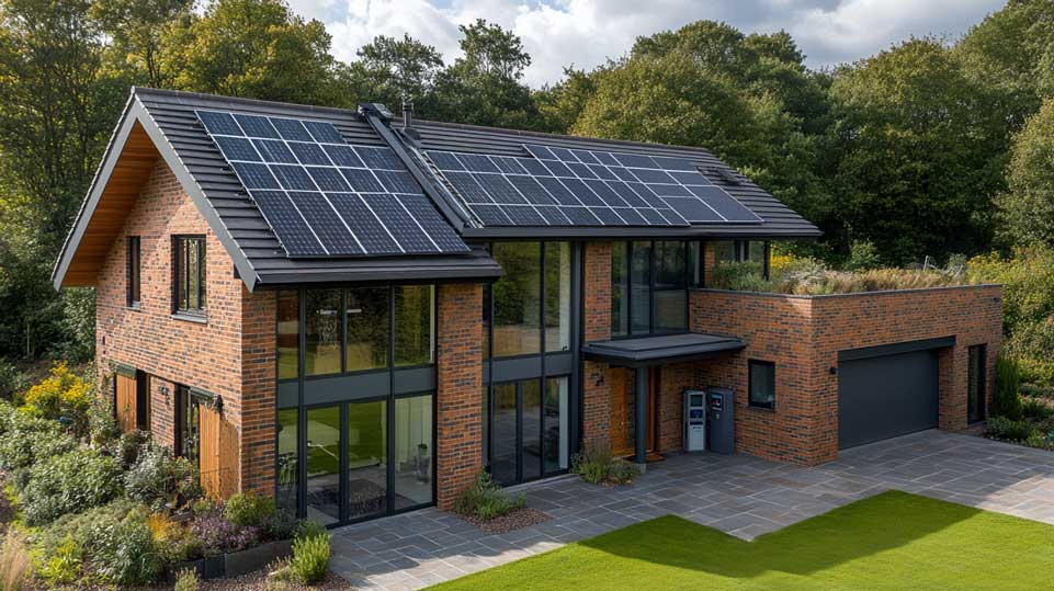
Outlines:
{"type": "MultiPolygon", "coordinates": [[[[647,424],[648,373],[642,370],[651,365],[710,359],[722,353],[739,351],[746,346],[746,342],[735,337],[695,332],[594,342],[582,346],[582,353],[589,361],[638,370],[634,388],[635,420],[636,424],[647,424]]],[[[634,431],[634,461],[642,469],[648,457],[646,436],[647,429],[634,431]]]]}

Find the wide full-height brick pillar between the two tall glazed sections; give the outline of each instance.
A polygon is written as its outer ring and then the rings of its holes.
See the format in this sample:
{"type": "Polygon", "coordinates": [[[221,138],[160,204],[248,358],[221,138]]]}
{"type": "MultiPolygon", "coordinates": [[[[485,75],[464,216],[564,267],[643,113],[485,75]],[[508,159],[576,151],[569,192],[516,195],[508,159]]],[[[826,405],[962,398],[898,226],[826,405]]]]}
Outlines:
{"type": "Polygon", "coordinates": [[[483,468],[483,286],[438,291],[437,504],[450,510],[483,468]]]}

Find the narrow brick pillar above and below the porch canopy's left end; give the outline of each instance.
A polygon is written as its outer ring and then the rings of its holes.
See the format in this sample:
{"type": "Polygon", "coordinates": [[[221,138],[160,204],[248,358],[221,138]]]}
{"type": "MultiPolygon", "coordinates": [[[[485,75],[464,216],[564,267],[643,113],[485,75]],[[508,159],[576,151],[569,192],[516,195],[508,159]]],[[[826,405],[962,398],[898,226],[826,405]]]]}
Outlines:
{"type": "MultiPolygon", "coordinates": [[[[611,338],[611,242],[585,246],[582,300],[585,341],[611,338]]],[[[582,365],[582,442],[608,445],[611,441],[611,376],[607,363],[582,365]]]]}

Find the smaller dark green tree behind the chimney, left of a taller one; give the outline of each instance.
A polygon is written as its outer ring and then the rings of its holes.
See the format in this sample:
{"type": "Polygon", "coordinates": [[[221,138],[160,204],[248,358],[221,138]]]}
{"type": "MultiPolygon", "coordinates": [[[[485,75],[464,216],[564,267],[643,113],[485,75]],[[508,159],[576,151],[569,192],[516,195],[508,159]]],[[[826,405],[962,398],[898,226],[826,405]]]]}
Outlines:
{"type": "Polygon", "coordinates": [[[379,35],[362,46],[358,55],[352,76],[361,95],[385,103],[393,111],[400,109],[404,100],[413,101],[426,111],[431,106],[435,76],[443,67],[435,47],[409,35],[403,39],[379,35]]]}

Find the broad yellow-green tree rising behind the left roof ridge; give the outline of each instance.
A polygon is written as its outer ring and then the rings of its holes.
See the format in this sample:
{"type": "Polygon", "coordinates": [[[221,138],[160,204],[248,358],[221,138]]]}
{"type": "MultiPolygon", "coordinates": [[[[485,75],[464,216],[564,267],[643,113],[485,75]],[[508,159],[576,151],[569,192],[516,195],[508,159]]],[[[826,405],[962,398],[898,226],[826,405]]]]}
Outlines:
{"type": "Polygon", "coordinates": [[[307,104],[347,104],[330,36],[281,0],[215,0],[161,37],[162,76],[174,88],[307,104]]]}

